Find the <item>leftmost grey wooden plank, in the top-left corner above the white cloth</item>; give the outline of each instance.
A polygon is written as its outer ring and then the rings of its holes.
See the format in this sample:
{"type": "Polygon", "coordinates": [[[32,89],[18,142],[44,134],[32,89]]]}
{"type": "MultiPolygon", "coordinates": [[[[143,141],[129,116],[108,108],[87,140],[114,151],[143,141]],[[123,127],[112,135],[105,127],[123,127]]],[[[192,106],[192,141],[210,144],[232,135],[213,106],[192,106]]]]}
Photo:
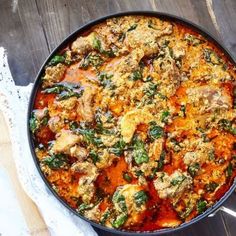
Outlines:
{"type": "Polygon", "coordinates": [[[0,45],[8,52],[14,80],[19,85],[34,81],[48,55],[40,16],[34,1],[21,0],[14,7],[9,0],[0,1],[0,45]]]}

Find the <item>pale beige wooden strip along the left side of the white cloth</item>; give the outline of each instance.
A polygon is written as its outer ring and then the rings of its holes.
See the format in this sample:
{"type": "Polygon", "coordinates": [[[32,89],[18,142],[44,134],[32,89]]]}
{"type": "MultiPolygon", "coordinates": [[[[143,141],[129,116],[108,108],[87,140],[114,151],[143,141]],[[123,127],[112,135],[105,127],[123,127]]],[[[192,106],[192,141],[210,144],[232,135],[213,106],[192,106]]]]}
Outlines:
{"type": "Polygon", "coordinates": [[[37,236],[49,235],[47,226],[41,217],[37,206],[26,195],[19,182],[15,162],[11,151],[11,141],[3,114],[0,112],[0,130],[4,135],[0,136],[0,168],[4,168],[11,180],[14,193],[19,202],[20,209],[28,226],[29,233],[37,236]]]}

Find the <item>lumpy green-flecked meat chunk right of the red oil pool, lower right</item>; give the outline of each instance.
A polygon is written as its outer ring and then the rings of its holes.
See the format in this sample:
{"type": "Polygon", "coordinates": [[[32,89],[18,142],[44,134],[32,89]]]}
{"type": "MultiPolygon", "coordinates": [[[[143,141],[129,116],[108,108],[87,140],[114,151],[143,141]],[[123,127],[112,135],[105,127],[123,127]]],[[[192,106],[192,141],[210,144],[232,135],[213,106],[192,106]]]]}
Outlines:
{"type": "Polygon", "coordinates": [[[178,199],[181,194],[191,187],[192,177],[187,172],[176,170],[173,174],[168,175],[165,172],[158,172],[157,179],[154,180],[154,187],[159,197],[178,199]]]}

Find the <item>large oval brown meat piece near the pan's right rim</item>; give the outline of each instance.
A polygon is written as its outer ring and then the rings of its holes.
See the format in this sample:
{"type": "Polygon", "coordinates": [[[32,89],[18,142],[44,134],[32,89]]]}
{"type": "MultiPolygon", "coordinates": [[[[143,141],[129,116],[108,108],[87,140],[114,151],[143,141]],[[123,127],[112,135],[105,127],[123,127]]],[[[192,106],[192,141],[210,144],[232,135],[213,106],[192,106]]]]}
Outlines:
{"type": "Polygon", "coordinates": [[[199,86],[187,89],[189,101],[198,107],[200,114],[216,109],[227,110],[231,107],[231,98],[223,89],[216,86],[199,86]],[[199,110],[200,107],[200,110],[199,110]]]}

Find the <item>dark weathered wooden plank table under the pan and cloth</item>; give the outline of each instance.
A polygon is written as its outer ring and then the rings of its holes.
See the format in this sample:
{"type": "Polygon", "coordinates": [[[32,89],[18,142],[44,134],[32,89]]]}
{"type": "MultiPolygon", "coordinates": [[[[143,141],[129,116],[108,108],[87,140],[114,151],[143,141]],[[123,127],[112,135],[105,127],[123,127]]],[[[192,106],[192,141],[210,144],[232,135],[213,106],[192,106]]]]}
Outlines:
{"type": "MultiPolygon", "coordinates": [[[[0,0],[0,46],[7,49],[16,84],[33,82],[50,51],[81,25],[128,10],[168,12],[189,19],[210,31],[236,57],[236,0],[0,0]]],[[[236,210],[236,194],[225,206],[236,210]]],[[[37,213],[35,217],[41,221],[37,213]]],[[[233,236],[235,222],[219,212],[173,235],[233,236]]]]}

